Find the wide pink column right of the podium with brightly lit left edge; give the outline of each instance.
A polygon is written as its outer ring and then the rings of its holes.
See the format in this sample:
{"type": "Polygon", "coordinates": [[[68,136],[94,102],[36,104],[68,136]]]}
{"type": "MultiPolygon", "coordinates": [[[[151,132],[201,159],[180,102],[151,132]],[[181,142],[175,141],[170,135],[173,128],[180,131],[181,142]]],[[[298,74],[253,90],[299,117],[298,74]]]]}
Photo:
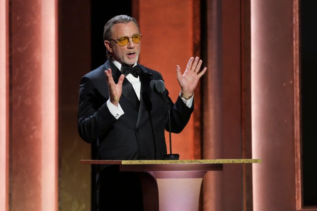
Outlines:
{"type": "Polygon", "coordinates": [[[251,1],[254,211],[296,209],[293,30],[292,0],[251,1]]]}

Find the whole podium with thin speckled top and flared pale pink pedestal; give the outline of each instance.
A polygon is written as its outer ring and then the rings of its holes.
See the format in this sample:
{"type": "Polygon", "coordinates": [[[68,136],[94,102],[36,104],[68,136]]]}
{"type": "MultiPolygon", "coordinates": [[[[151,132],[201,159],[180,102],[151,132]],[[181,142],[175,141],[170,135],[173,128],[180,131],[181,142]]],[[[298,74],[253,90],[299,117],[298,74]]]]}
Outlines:
{"type": "Polygon", "coordinates": [[[260,159],[213,160],[81,160],[81,164],[119,165],[120,171],[140,174],[144,210],[198,211],[203,177],[227,164],[262,163],[260,159]]]}

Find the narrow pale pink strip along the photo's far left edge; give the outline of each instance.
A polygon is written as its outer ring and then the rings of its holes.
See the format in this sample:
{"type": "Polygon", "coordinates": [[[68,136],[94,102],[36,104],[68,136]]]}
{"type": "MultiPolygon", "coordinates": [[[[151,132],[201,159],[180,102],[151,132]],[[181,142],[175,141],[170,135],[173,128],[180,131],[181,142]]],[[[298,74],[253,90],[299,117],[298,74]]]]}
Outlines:
{"type": "Polygon", "coordinates": [[[0,0],[0,210],[9,210],[8,0],[0,0]]]}

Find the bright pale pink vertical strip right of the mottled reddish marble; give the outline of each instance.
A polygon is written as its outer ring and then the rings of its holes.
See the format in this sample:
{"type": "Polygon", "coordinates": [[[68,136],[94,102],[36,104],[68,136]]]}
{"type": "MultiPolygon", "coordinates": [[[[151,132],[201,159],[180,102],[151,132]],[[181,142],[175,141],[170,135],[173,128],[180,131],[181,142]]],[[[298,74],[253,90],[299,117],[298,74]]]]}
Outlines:
{"type": "Polygon", "coordinates": [[[58,210],[57,2],[41,0],[42,211],[58,210]]]}

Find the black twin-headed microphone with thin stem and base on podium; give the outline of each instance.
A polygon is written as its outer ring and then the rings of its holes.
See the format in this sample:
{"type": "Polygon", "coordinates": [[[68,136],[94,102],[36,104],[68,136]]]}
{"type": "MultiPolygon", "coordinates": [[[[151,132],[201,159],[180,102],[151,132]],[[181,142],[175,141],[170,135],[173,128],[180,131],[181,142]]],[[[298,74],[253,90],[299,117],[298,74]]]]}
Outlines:
{"type": "Polygon", "coordinates": [[[166,100],[163,96],[163,93],[165,91],[165,84],[162,80],[152,80],[150,82],[150,87],[152,90],[158,92],[163,101],[164,101],[164,104],[167,108],[167,111],[168,111],[168,126],[169,126],[169,154],[165,154],[163,155],[163,160],[179,160],[179,154],[172,154],[172,135],[171,135],[171,128],[170,128],[170,112],[169,112],[169,109],[168,109],[168,106],[167,106],[167,103],[166,103],[166,100]]]}

